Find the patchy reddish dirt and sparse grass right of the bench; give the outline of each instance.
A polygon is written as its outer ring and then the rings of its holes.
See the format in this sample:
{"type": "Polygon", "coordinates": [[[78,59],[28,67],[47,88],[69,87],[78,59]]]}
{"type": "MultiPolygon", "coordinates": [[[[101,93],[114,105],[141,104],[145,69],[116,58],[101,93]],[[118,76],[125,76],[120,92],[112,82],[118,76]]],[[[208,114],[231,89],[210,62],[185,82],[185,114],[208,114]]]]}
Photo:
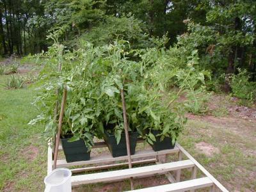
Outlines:
{"type": "Polygon", "coordinates": [[[180,143],[230,191],[256,191],[255,105],[225,102],[214,106],[227,109],[225,117],[188,114],[180,143]]]}

